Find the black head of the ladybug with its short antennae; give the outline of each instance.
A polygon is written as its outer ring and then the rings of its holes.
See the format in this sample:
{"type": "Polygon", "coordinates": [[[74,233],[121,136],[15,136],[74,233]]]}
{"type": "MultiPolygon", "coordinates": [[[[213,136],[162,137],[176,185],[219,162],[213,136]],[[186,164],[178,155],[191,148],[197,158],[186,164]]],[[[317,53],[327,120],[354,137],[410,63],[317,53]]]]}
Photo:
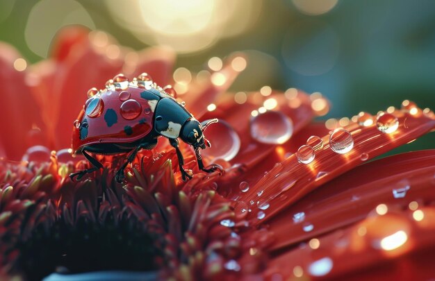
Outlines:
{"type": "Polygon", "coordinates": [[[183,139],[183,142],[186,142],[186,144],[190,144],[195,149],[205,149],[206,146],[210,147],[211,144],[210,142],[208,142],[208,139],[204,137],[203,132],[210,124],[216,122],[217,119],[203,121],[202,123],[199,123],[199,121],[195,119],[190,119],[186,121],[186,123],[183,125],[180,137],[181,139],[183,139]]]}

